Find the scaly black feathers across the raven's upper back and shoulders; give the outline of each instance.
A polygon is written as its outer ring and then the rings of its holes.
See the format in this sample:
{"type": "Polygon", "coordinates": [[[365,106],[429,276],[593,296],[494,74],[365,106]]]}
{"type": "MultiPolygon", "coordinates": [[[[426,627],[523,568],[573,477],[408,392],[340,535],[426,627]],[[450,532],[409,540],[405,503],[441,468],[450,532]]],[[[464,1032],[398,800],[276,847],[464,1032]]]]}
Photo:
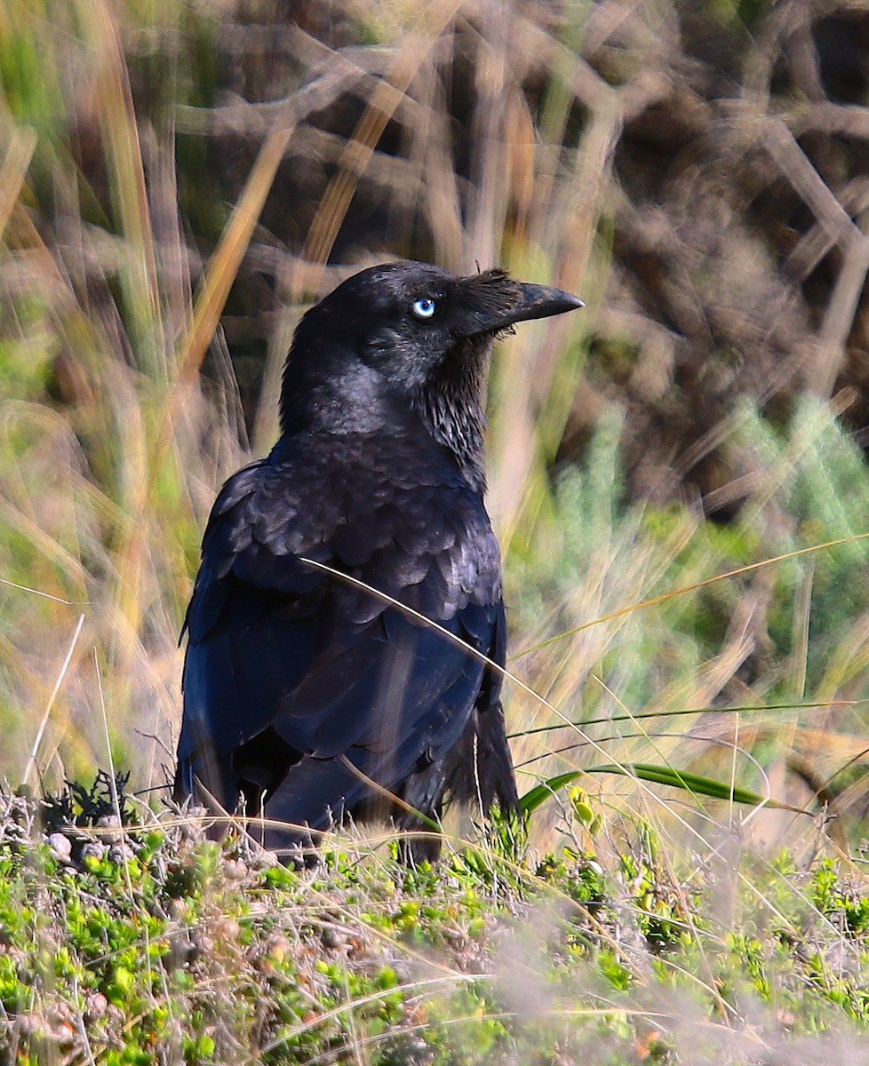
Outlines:
{"type": "Polygon", "coordinates": [[[434,621],[500,601],[500,553],[480,498],[402,441],[377,443],[372,462],[371,441],[343,441],[326,491],[317,488],[324,473],[316,448],[304,458],[277,451],[229,479],[203,543],[187,619],[193,643],[220,625],[236,581],[271,592],[270,609],[286,597],[285,611],[297,600],[303,612],[306,600],[328,595],[336,620],[350,626],[370,623],[390,599],[434,621]]]}

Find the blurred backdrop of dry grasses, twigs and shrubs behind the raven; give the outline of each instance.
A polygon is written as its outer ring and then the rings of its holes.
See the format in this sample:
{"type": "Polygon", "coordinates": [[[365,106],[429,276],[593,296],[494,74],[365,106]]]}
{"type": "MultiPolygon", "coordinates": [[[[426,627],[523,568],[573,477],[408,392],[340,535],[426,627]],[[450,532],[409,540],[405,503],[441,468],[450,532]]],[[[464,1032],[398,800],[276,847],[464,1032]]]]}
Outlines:
{"type": "Polygon", "coordinates": [[[847,0],[4,0],[0,773],[164,784],[214,492],[305,307],[412,257],[588,303],[493,365],[527,787],[654,762],[858,842],[867,46],[847,0]]]}

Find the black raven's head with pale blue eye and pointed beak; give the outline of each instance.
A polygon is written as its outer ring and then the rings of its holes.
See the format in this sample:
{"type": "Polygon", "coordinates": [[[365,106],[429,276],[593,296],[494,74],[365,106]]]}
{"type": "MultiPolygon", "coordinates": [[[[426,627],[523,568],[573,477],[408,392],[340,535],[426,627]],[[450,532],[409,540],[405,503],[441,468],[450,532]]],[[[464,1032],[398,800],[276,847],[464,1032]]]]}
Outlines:
{"type": "Polygon", "coordinates": [[[482,391],[493,340],[517,322],[578,307],[582,301],[567,292],[514,281],[501,270],[458,277],[420,262],[371,266],[300,323],[284,376],[281,425],[292,429],[300,403],[307,421],[317,392],[331,427],[377,430],[381,399],[389,397],[416,410],[482,485],[482,391]]]}

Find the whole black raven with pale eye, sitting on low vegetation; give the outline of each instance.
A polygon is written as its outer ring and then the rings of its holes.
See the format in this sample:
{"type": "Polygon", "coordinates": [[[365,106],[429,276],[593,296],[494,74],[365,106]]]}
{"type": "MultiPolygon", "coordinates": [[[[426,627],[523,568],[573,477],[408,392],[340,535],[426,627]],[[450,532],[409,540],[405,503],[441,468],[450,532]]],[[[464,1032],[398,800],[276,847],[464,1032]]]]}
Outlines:
{"type": "MultiPolygon", "coordinates": [[[[516,807],[501,677],[460,643],[504,662],[484,378],[498,334],[581,306],[500,270],[395,262],[305,314],[280,439],[227,481],[205,532],[178,801],[291,823],[267,824],[276,849],[344,814],[425,828],[445,795],[516,807]]],[[[437,851],[405,841],[411,859],[437,851]]]]}

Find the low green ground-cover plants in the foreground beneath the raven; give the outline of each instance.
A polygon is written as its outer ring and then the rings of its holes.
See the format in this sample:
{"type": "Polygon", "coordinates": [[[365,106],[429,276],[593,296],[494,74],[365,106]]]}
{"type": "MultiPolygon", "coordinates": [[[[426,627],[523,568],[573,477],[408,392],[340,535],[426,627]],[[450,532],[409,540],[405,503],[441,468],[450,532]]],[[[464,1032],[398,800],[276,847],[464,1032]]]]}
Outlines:
{"type": "Polygon", "coordinates": [[[614,851],[598,820],[584,847],[517,854],[496,826],[407,870],[357,836],[295,871],[109,785],[0,801],[17,1066],[857,1062],[869,1037],[869,897],[843,860],[733,833],[676,859],[648,823],[614,851]]]}

